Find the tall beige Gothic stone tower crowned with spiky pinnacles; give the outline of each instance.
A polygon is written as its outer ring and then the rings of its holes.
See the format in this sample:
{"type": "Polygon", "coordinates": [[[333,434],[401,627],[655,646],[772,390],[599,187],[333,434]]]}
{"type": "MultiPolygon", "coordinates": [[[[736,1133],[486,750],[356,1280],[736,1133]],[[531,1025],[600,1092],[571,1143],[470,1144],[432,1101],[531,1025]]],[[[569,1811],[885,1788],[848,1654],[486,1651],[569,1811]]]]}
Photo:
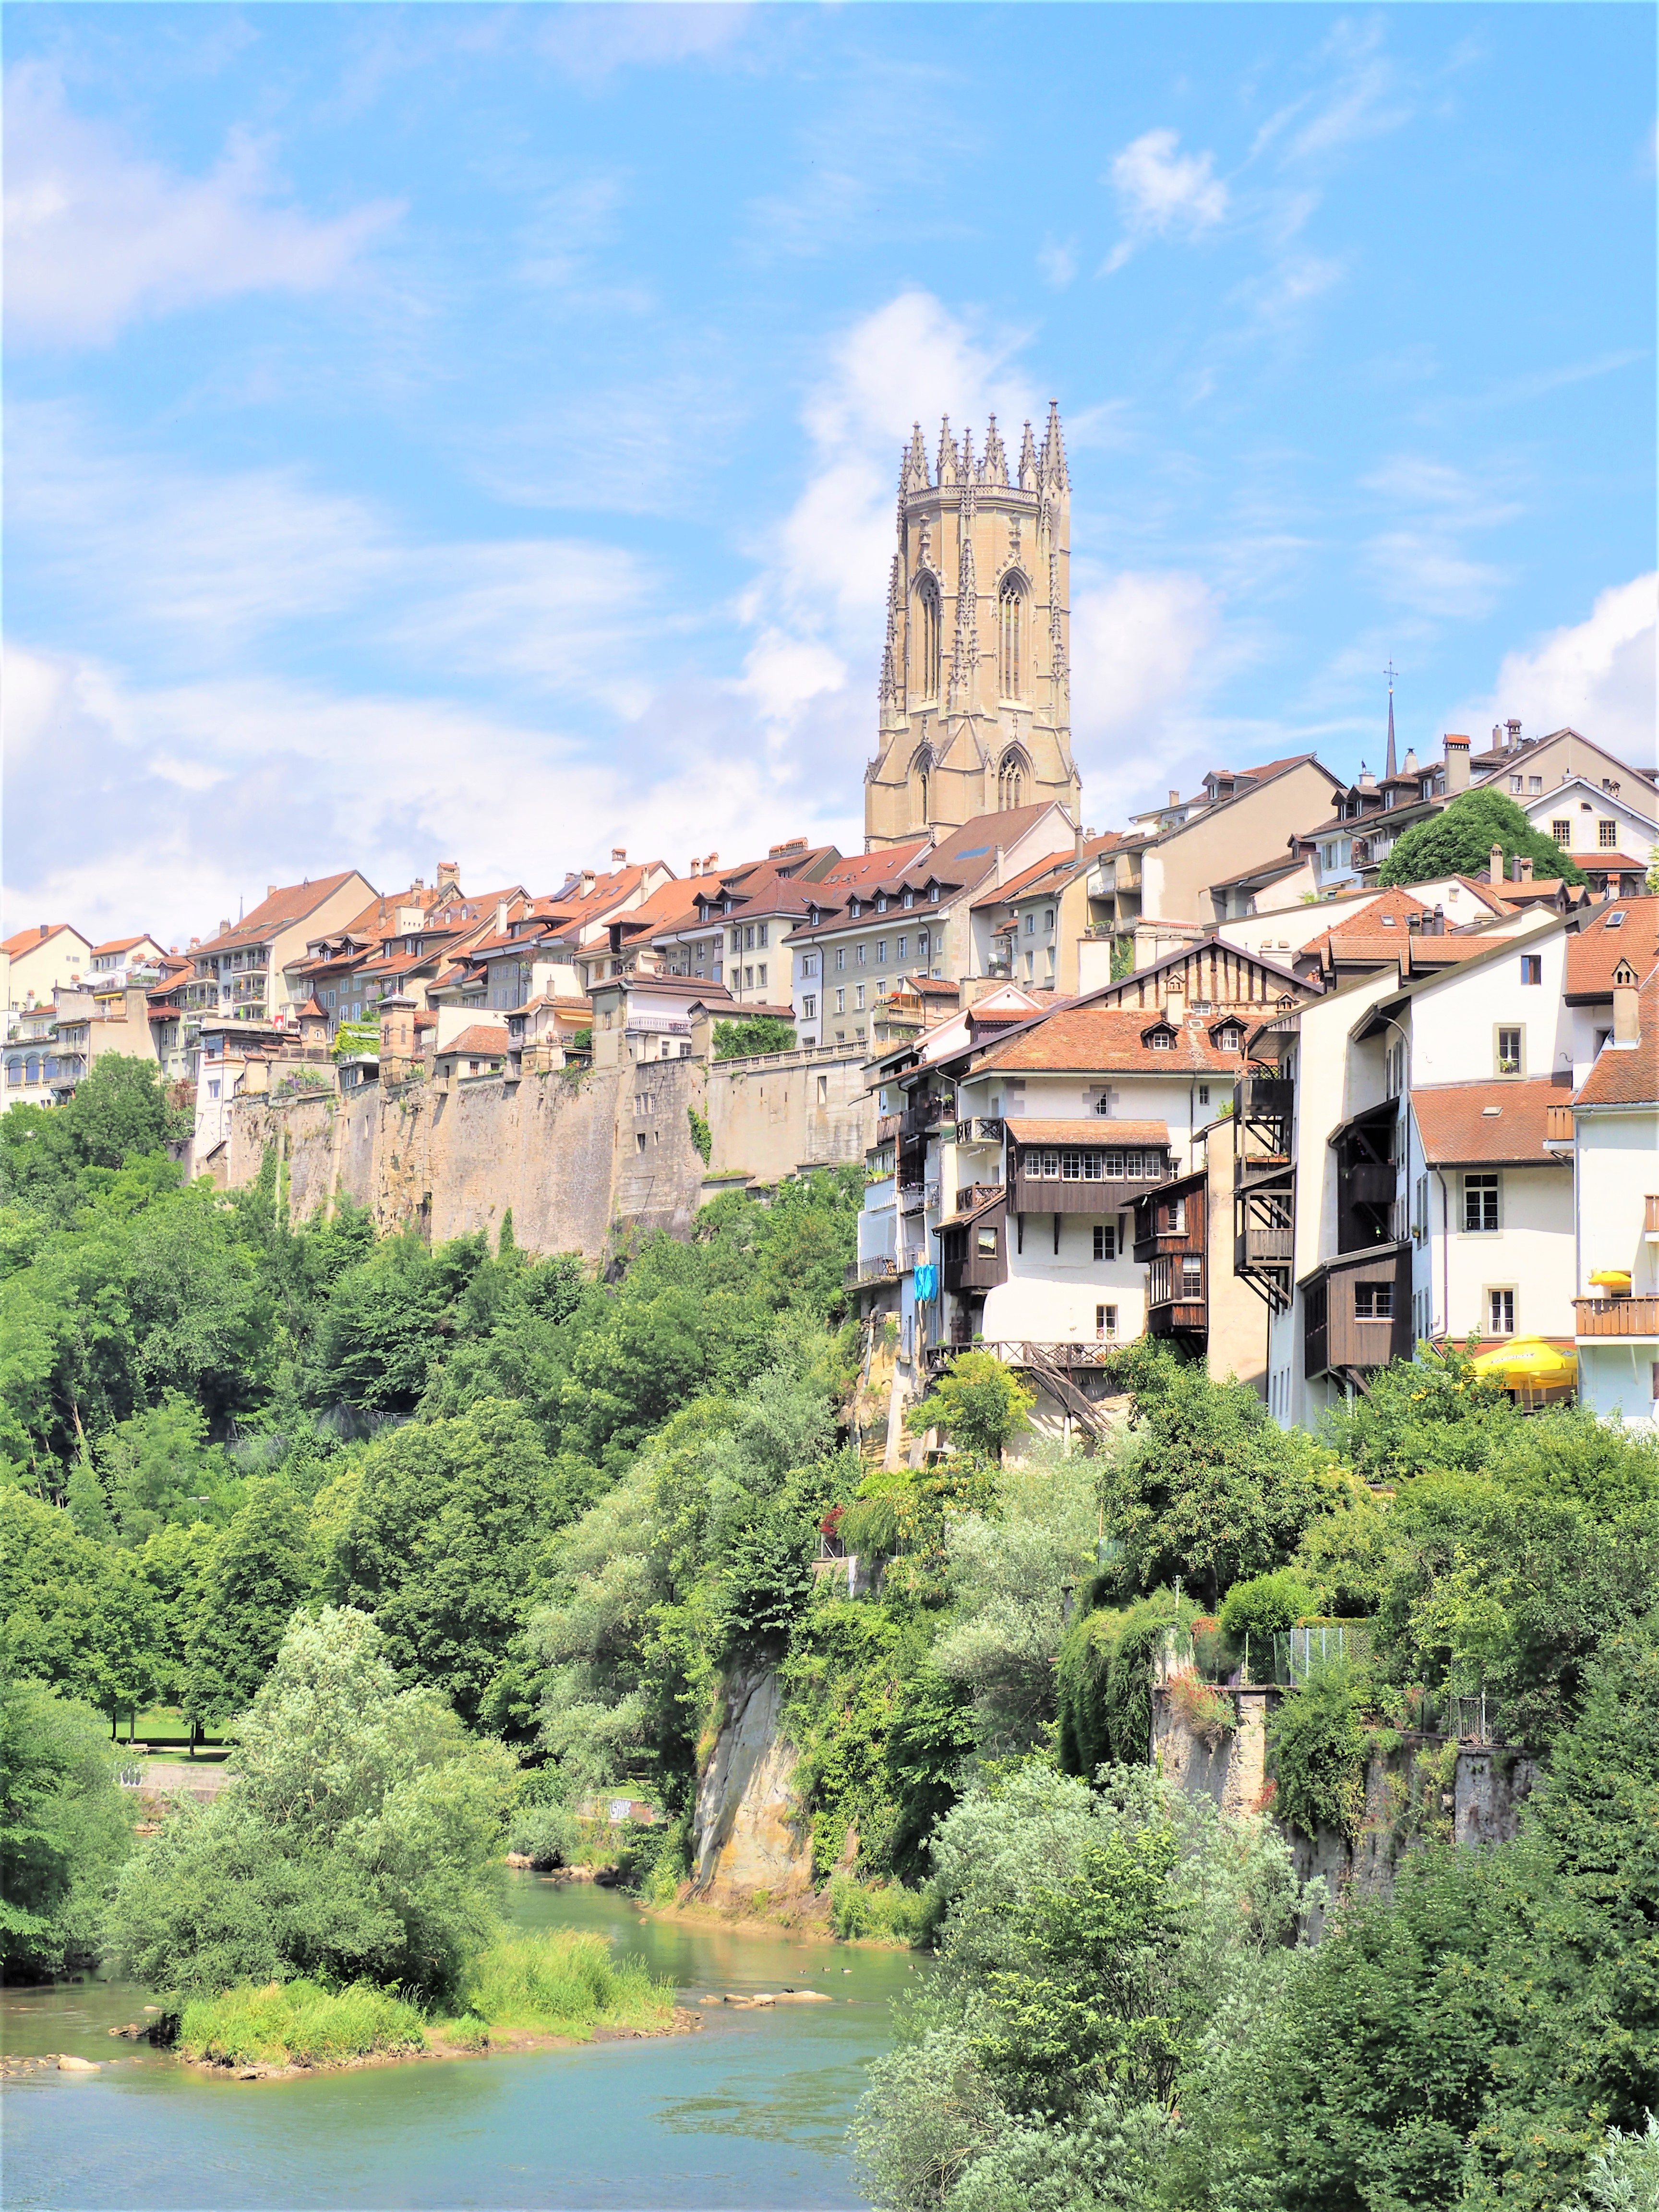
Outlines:
{"type": "Polygon", "coordinates": [[[984,453],[949,420],[927,467],[916,425],[898,471],[880,739],[865,770],[865,849],[1057,799],[1082,821],[1071,759],[1071,476],[1060,407],[1026,422],[1009,480],[995,416],[984,453]]]}

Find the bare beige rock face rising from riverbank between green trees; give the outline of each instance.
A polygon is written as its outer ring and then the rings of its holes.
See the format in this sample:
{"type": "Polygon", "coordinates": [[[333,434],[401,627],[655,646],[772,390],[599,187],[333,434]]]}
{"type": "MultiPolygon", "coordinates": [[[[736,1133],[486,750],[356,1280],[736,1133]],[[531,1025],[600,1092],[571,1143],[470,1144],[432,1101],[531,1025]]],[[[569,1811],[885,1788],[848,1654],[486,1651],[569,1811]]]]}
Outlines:
{"type": "Polygon", "coordinates": [[[781,1905],[812,1889],[812,1836],[794,1801],[796,1750],[781,1708],[774,1672],[730,1677],[692,1823],[690,1896],[703,1905],[748,1905],[757,1891],[781,1905]]]}

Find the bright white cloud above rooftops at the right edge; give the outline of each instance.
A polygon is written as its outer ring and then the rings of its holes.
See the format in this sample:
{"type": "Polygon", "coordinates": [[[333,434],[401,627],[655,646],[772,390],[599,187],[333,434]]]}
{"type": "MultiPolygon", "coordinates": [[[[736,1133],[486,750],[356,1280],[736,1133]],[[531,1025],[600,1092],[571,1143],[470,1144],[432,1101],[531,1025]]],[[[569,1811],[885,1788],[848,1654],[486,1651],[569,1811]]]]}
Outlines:
{"type": "Polygon", "coordinates": [[[1659,573],[1604,591],[1584,622],[1506,653],[1484,699],[1464,701],[1449,730],[1489,730],[1517,714],[1528,737],[1571,723],[1635,768],[1652,768],[1659,692],[1659,573]]]}

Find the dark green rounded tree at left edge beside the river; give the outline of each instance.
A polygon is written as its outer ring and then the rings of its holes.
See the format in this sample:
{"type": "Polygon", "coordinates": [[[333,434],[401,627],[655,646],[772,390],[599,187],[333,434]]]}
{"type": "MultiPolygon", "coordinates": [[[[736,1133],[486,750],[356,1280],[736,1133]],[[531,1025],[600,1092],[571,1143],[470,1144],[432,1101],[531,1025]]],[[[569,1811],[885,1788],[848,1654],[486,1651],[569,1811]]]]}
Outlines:
{"type": "Polygon", "coordinates": [[[9,1982],[88,1966],[133,1847],[108,1730],[0,1666],[0,1969],[9,1982]]]}

